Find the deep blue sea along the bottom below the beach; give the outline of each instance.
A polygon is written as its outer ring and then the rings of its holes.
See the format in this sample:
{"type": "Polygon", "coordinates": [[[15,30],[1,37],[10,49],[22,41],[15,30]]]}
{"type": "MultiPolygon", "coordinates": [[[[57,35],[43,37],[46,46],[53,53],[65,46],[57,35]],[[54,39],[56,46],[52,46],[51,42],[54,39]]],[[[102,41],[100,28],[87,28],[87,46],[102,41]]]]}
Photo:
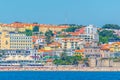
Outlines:
{"type": "Polygon", "coordinates": [[[120,80],[120,72],[6,71],[0,80],[120,80]]]}

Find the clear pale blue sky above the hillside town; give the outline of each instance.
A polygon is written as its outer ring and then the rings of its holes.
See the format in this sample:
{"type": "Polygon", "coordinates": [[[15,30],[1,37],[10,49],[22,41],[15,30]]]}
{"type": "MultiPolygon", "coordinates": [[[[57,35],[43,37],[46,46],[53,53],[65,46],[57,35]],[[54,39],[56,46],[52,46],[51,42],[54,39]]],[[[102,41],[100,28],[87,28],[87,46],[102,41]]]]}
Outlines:
{"type": "Polygon", "coordinates": [[[0,22],[120,25],[120,0],[0,0],[0,22]]]}

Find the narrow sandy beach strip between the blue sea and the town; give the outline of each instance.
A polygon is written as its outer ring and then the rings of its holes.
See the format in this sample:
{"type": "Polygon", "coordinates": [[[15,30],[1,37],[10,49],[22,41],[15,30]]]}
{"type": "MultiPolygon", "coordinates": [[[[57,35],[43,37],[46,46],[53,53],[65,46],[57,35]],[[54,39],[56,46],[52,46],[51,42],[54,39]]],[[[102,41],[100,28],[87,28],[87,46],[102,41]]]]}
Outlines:
{"type": "Polygon", "coordinates": [[[0,67],[2,71],[81,71],[81,72],[119,72],[120,67],[0,67]]]}

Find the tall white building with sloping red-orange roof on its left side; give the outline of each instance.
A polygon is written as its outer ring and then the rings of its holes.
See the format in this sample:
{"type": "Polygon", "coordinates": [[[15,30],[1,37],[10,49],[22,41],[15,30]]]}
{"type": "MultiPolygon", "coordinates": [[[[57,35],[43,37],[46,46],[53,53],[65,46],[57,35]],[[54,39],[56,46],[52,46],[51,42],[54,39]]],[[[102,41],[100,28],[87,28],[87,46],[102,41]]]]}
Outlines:
{"type": "Polygon", "coordinates": [[[86,42],[97,41],[99,42],[99,35],[97,33],[97,27],[93,25],[89,25],[87,27],[82,27],[80,29],[76,29],[75,32],[68,33],[73,38],[81,38],[86,42]]]}

